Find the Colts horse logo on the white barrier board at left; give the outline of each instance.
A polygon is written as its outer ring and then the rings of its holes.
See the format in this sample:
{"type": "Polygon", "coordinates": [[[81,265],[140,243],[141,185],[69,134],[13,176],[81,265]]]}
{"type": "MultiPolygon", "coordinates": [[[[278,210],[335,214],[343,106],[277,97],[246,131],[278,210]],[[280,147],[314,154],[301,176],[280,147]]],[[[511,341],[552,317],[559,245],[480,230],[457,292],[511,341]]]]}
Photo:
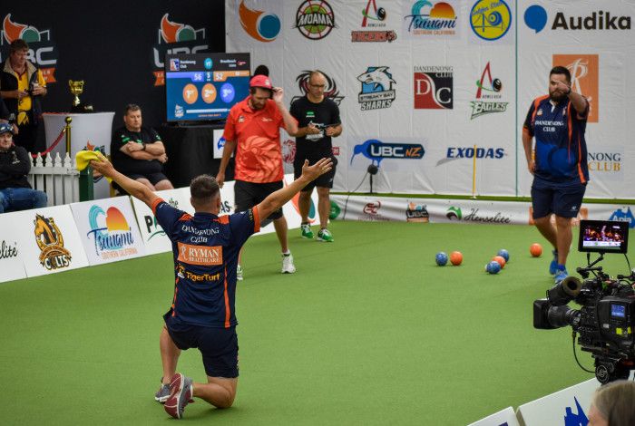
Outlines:
{"type": "Polygon", "coordinates": [[[71,266],[71,252],[64,248],[64,236],[55,225],[54,218],[35,215],[34,235],[40,248],[40,264],[46,269],[62,269],[71,266]]]}

